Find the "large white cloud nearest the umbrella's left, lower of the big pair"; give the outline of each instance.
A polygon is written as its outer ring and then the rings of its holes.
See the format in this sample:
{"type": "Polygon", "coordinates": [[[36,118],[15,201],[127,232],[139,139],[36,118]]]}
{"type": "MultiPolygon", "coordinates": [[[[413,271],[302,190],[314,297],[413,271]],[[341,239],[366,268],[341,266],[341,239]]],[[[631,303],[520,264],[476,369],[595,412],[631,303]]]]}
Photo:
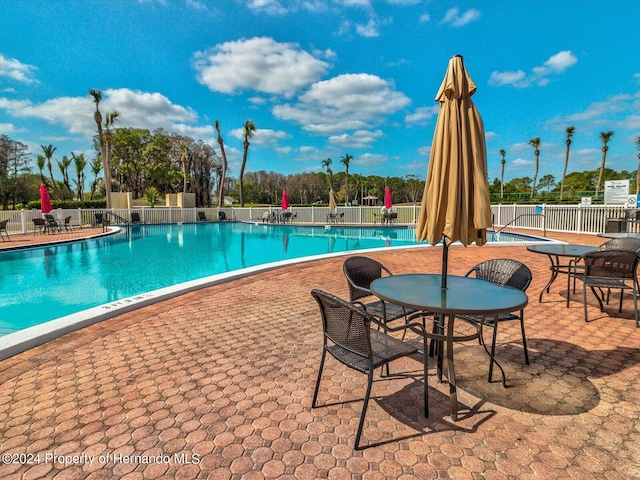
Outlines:
{"type": "Polygon", "coordinates": [[[276,118],[319,134],[367,130],[385,115],[405,108],[411,100],[393,84],[375,75],[345,74],[315,83],[295,104],[277,105],[276,118]]]}

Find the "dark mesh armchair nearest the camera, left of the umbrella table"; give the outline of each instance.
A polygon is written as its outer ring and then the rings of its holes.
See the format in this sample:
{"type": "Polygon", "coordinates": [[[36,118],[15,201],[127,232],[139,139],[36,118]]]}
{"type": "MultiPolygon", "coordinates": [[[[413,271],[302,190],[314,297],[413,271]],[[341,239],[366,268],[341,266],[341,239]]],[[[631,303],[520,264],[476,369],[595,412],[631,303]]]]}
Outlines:
{"type": "MultiPolygon", "coordinates": [[[[388,335],[386,332],[396,332],[409,328],[422,329],[422,325],[406,324],[399,327],[388,327],[376,320],[362,308],[358,303],[346,302],[338,297],[330,295],[320,290],[313,290],[311,295],[316,299],[320,307],[322,316],[323,348],[320,359],[320,369],[316,388],[313,393],[312,408],[317,407],[318,391],[320,390],[320,380],[326,354],[343,365],[367,375],[367,391],[360,414],[360,423],[356,433],[355,449],[360,450],[360,437],[364,418],[367,413],[367,405],[371,394],[373,383],[373,372],[376,368],[388,365],[389,362],[398,358],[406,357],[418,353],[418,349],[402,340],[388,335]],[[372,324],[377,325],[383,331],[372,329],[372,324]]],[[[426,348],[426,334],[422,332],[423,348],[426,348]]],[[[424,415],[429,416],[429,403],[427,395],[427,356],[422,355],[422,368],[424,376],[424,415]]]]}

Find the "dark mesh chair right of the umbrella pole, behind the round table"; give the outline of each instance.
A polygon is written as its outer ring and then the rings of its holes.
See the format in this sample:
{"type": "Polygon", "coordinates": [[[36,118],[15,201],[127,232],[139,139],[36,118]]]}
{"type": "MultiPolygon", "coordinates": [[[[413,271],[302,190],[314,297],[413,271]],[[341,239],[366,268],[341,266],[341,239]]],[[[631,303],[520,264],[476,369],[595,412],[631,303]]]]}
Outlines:
{"type": "MultiPolygon", "coordinates": [[[[489,282],[502,285],[505,287],[512,287],[522,290],[523,292],[529,288],[531,284],[531,270],[522,262],[517,260],[511,260],[508,258],[497,258],[487,260],[477,264],[471,270],[467,272],[465,276],[474,274],[476,278],[487,280],[489,282]]],[[[489,363],[489,382],[493,381],[493,366],[495,363],[494,356],[496,351],[496,338],[498,334],[498,324],[510,320],[520,321],[520,330],[522,332],[522,346],[524,347],[524,361],[529,365],[529,350],[527,349],[527,336],[524,331],[524,310],[520,310],[518,314],[515,313],[503,313],[492,317],[480,317],[474,315],[465,315],[466,320],[470,320],[478,325],[480,333],[482,334],[482,328],[486,325],[493,328],[493,337],[491,339],[491,360],[489,363]]],[[[482,338],[482,336],[481,336],[482,338]]],[[[486,347],[485,347],[486,348],[486,347]]],[[[502,370],[502,368],[501,368],[502,370]]],[[[506,380],[504,372],[502,372],[502,383],[505,385],[506,380]]]]}

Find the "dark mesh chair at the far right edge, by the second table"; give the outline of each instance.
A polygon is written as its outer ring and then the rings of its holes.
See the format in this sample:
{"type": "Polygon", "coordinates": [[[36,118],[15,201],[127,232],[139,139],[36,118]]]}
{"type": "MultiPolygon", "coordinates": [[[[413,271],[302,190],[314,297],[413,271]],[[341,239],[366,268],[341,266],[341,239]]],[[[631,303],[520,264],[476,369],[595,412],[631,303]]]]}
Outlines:
{"type": "Polygon", "coordinates": [[[638,254],[628,250],[596,250],[584,254],[578,261],[584,263],[584,272],[575,276],[582,280],[582,301],[584,304],[584,321],[588,322],[587,315],[587,287],[595,295],[600,306],[600,311],[604,312],[602,298],[595,289],[607,289],[607,304],[609,303],[609,293],[613,290],[620,290],[620,306],[618,313],[622,312],[622,299],[624,290],[631,290],[633,293],[633,310],[636,320],[636,328],[640,327],[638,322],[638,254]],[[629,285],[628,282],[631,282],[629,285]]]}

